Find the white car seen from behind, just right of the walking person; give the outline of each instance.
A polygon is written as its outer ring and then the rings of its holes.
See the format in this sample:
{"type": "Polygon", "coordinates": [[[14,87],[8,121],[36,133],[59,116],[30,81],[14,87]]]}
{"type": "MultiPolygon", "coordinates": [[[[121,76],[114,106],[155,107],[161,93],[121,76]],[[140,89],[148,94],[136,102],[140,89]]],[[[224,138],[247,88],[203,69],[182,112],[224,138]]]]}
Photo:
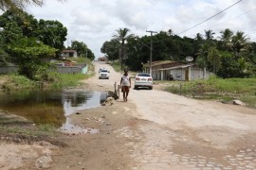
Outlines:
{"type": "Polygon", "coordinates": [[[148,73],[137,73],[135,77],[135,89],[137,90],[139,87],[147,87],[150,90],[153,89],[153,78],[148,73]]]}

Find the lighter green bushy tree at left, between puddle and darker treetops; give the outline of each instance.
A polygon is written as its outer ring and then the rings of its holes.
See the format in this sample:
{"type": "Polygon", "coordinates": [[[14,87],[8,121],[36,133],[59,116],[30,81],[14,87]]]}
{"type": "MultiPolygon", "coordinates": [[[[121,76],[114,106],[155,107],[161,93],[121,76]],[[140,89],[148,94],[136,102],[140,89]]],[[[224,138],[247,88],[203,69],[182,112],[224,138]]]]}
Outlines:
{"type": "Polygon", "coordinates": [[[55,56],[56,49],[33,38],[23,38],[9,45],[13,63],[19,66],[19,74],[30,79],[47,78],[49,64],[44,59],[55,56]]]}

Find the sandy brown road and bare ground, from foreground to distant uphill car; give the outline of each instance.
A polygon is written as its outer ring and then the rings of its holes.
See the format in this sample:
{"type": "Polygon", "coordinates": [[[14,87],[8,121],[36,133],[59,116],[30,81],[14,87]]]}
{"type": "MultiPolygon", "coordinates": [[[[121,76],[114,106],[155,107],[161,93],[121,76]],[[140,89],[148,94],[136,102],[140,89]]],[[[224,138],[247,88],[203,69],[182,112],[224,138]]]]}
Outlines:
{"type": "MultiPolygon", "coordinates": [[[[122,73],[95,62],[86,90],[114,91],[122,73]],[[99,79],[99,68],[110,70],[99,79]]],[[[1,144],[2,169],[256,169],[256,110],[154,90],[134,90],[72,123],[99,133],[61,135],[54,144],[1,144]],[[16,163],[17,162],[17,163],[16,163]]]]}

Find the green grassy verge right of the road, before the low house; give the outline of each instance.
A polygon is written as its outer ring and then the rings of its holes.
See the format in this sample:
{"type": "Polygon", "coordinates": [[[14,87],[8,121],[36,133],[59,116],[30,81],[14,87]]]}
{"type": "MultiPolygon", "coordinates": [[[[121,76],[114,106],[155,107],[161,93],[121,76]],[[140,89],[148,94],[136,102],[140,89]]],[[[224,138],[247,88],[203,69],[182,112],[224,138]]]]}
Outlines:
{"type": "Polygon", "coordinates": [[[207,80],[164,81],[164,89],[170,93],[185,95],[196,99],[214,99],[223,103],[233,100],[244,102],[247,107],[256,108],[256,78],[218,78],[210,76],[207,80]]]}

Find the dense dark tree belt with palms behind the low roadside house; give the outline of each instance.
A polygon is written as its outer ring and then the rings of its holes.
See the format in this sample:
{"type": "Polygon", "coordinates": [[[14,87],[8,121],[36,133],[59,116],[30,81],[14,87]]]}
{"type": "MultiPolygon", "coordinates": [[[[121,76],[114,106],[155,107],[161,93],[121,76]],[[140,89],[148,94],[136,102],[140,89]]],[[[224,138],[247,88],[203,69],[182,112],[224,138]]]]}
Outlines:
{"type": "Polygon", "coordinates": [[[221,31],[220,40],[214,39],[213,30],[205,30],[203,34],[197,33],[194,39],[181,38],[172,31],[160,31],[152,37],[125,38],[127,40],[125,44],[121,37],[124,34],[126,36],[129,29],[120,28],[117,31],[118,34],[114,36],[116,39],[104,42],[101,52],[111,60],[123,55],[125,65],[134,71],[143,70],[143,63],[149,61],[152,39],[153,61],[168,59],[185,61],[187,56],[192,56],[199,67],[206,67],[217,76],[227,78],[256,75],[256,42],[249,42],[242,31],[233,33],[230,29],[225,29],[221,31]],[[119,42],[114,42],[115,40],[122,42],[119,45],[119,42]]]}

